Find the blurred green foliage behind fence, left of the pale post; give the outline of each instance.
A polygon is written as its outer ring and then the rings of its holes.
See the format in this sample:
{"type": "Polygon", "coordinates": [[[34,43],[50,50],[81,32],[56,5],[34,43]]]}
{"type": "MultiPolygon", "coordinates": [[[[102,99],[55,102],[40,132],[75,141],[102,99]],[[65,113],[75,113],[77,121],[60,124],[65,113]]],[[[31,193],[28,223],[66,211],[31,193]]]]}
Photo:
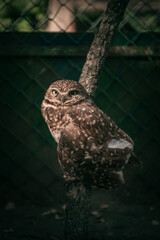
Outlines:
{"type": "Polygon", "coordinates": [[[48,1],[0,0],[0,31],[43,29],[48,1]]]}

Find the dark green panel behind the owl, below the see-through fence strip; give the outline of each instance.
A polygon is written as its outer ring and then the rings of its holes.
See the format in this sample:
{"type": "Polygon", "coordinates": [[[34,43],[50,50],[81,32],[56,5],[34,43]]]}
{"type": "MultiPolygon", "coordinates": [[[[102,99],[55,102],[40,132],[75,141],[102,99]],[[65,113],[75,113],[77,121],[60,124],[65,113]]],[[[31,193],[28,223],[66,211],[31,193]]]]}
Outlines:
{"type": "MultiPolygon", "coordinates": [[[[153,33],[135,36],[133,33],[126,39],[119,34],[114,45],[151,47],[157,46],[160,39],[159,34],[153,33]]],[[[10,200],[16,204],[64,203],[56,144],[41,116],[40,105],[53,81],[78,80],[85,62],[84,49],[88,49],[92,39],[93,35],[86,33],[0,34],[2,207],[10,200]],[[60,47],[61,51],[47,53],[52,47],[60,47]],[[69,51],[73,47],[74,54],[63,52],[63,48],[69,51]]],[[[126,167],[126,185],[116,191],[96,190],[94,204],[103,202],[104,196],[110,202],[118,199],[121,208],[124,203],[142,207],[159,204],[159,66],[158,55],[111,54],[105,62],[95,102],[132,137],[143,168],[126,167]]]]}

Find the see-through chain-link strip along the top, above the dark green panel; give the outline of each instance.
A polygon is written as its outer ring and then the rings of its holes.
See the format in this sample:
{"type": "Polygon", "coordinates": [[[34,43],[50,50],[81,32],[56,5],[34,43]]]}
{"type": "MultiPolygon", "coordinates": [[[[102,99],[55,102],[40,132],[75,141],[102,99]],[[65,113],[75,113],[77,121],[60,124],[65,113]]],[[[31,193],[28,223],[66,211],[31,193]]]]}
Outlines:
{"type": "MultiPolygon", "coordinates": [[[[93,32],[106,0],[0,0],[0,31],[93,32]]],[[[120,29],[160,30],[159,0],[131,0],[120,29]]],[[[122,30],[121,30],[122,31],[122,30]]]]}

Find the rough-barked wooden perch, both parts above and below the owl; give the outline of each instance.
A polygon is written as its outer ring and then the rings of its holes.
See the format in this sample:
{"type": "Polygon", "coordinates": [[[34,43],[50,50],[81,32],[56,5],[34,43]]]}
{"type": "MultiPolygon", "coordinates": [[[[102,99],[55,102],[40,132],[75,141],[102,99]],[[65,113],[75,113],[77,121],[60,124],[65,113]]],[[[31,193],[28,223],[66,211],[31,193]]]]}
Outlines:
{"type": "MultiPolygon", "coordinates": [[[[129,0],[110,0],[87,55],[79,82],[91,95],[129,0]]],[[[65,240],[86,240],[90,188],[83,182],[67,184],[65,240]]]]}

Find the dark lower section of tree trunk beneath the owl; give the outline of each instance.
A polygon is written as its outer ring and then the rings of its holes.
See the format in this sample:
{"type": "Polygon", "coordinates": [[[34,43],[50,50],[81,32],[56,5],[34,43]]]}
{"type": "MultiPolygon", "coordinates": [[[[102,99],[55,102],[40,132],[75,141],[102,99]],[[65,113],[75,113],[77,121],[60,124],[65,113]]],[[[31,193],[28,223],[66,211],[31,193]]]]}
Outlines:
{"type": "Polygon", "coordinates": [[[65,240],[87,240],[90,187],[72,182],[66,197],[65,240]]]}

